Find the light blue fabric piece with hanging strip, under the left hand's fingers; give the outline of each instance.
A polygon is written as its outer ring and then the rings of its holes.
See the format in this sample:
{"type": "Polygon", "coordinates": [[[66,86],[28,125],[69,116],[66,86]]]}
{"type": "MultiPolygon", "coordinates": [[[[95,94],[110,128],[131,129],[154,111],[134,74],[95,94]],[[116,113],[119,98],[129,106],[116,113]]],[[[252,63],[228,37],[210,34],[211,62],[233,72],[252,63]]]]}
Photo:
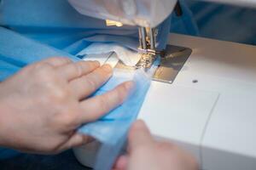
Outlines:
{"type": "Polygon", "coordinates": [[[123,105],[97,122],[89,123],[79,129],[80,132],[90,134],[103,143],[97,155],[95,169],[112,169],[115,159],[125,144],[126,133],[143,105],[151,82],[151,77],[143,70],[115,70],[114,73],[116,75],[114,74],[111,80],[96,92],[96,95],[104,94],[120,82],[129,80],[136,83],[136,88],[123,105]]]}

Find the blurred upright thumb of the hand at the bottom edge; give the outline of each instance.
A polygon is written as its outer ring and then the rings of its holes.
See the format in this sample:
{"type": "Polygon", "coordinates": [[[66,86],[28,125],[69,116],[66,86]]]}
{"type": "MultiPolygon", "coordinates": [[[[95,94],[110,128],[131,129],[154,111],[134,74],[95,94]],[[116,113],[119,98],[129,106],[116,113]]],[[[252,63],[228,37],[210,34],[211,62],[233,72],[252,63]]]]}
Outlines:
{"type": "Polygon", "coordinates": [[[154,144],[154,139],[151,136],[148,127],[143,121],[134,122],[131,126],[128,136],[129,149],[136,150],[146,144],[154,144]]]}

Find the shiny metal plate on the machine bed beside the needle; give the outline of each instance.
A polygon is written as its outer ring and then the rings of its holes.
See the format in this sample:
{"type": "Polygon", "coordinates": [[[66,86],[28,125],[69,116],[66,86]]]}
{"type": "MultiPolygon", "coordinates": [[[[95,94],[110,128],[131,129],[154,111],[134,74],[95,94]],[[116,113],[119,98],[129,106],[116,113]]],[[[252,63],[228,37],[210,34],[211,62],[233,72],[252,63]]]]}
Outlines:
{"type": "Polygon", "coordinates": [[[172,83],[183,68],[192,49],[167,45],[166,54],[161,57],[159,68],[155,71],[153,80],[172,83]]]}

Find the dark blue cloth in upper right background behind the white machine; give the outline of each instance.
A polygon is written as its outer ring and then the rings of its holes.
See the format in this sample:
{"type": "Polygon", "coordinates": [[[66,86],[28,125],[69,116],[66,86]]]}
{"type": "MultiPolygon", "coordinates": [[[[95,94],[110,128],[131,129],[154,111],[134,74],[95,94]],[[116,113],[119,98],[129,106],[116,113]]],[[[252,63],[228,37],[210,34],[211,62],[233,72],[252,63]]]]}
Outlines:
{"type": "Polygon", "coordinates": [[[256,45],[256,10],[186,0],[202,37],[256,45]]]}

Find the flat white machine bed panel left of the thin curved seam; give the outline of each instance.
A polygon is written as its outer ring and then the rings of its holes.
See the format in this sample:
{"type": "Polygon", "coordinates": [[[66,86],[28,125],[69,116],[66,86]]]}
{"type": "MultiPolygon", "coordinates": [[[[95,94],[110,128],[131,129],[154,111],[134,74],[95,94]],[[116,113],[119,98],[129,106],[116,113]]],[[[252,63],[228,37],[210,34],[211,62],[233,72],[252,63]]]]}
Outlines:
{"type": "Polygon", "coordinates": [[[152,82],[138,118],[156,137],[193,145],[199,159],[201,134],[217,99],[216,92],[152,82]]]}

